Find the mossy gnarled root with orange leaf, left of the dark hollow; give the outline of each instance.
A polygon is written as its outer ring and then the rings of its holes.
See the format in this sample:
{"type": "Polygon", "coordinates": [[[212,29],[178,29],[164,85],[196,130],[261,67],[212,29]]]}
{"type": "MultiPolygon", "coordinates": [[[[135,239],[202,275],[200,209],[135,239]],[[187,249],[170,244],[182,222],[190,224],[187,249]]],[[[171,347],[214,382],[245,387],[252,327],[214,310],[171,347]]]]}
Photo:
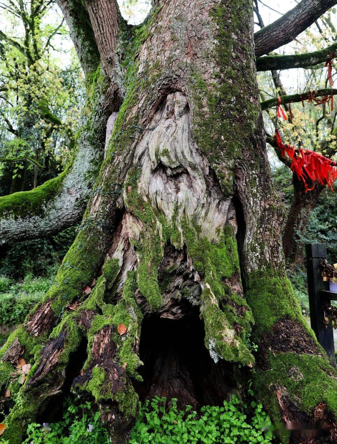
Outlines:
{"type": "Polygon", "coordinates": [[[130,377],[141,380],[136,369],[142,315],[135,301],[136,273],[129,271],[123,297],[116,305],[104,302],[107,286],[115,279],[118,261],[103,267],[103,275],[86,302],[89,310],[99,307],[88,334],[88,358],[73,384],[75,392],[89,392],[99,404],[101,419],[111,442],[126,443],[138,413],[138,396],[130,377]]]}

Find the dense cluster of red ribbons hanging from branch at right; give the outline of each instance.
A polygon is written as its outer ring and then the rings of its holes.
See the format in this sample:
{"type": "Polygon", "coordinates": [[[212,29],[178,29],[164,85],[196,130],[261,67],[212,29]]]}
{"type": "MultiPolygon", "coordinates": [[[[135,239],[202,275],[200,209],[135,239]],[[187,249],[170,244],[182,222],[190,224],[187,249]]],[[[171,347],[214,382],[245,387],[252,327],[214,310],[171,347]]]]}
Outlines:
{"type": "Polygon", "coordinates": [[[337,162],[315,151],[304,150],[303,148],[296,149],[289,144],[284,145],[278,130],[275,130],[274,138],[281,150],[282,157],[287,153],[291,159],[290,168],[297,175],[297,178],[304,183],[305,191],[313,190],[315,182],[319,182],[321,185],[326,183],[328,188],[333,190],[333,182],[337,178],[337,162]],[[312,188],[309,188],[307,184],[308,178],[313,181],[312,188]]]}

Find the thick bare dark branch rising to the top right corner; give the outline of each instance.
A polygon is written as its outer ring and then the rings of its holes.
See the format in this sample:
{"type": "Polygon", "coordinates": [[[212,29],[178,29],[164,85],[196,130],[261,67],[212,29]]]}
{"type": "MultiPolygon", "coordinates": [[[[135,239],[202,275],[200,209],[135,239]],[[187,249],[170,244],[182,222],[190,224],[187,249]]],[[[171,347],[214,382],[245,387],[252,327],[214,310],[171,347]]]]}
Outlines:
{"type": "Polygon", "coordinates": [[[336,0],[302,0],[284,16],[255,32],[255,55],[263,56],[291,42],[336,3],[336,0]]]}

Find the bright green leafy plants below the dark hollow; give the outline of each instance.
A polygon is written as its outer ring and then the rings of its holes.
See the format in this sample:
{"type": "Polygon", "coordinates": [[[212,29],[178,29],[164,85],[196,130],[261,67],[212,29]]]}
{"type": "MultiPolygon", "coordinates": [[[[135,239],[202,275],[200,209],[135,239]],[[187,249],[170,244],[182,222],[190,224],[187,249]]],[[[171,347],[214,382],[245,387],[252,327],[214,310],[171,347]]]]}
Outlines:
{"type": "Polygon", "coordinates": [[[170,408],[166,398],[156,397],[140,405],[139,418],[131,433],[131,444],[214,444],[214,443],[261,443],[272,442],[270,418],[262,410],[262,404],[246,402],[233,396],[223,406],[202,407],[200,415],[186,406],[178,410],[177,400],[172,399],[170,408]]]}

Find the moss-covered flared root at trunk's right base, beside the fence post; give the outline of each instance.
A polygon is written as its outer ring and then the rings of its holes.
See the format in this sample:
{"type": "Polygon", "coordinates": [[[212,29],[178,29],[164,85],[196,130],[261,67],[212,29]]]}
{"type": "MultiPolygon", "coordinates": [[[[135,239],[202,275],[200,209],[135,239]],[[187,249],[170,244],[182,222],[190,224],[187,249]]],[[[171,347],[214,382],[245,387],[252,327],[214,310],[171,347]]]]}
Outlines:
{"type": "MultiPolygon", "coordinates": [[[[335,442],[337,371],[303,319],[288,279],[272,270],[252,272],[247,287],[258,344],[253,381],[259,399],[274,423],[325,423],[326,442],[335,442]]],[[[280,440],[288,443],[289,435],[280,440]]]]}

